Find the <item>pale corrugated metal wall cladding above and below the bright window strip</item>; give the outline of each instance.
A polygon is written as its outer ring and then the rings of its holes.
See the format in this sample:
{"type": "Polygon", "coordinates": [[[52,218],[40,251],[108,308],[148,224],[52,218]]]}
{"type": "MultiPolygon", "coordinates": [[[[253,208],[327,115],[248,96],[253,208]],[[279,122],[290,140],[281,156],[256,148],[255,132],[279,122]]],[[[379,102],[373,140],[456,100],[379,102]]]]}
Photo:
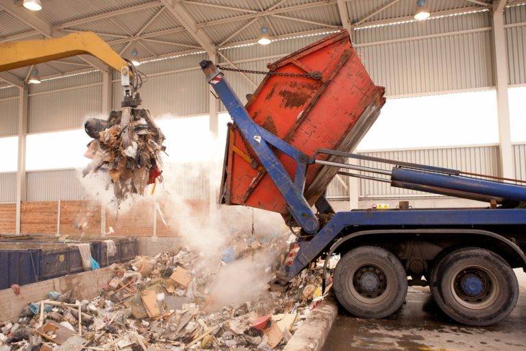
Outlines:
{"type": "MultiPolygon", "coordinates": [[[[357,50],[373,80],[386,86],[390,96],[440,93],[449,90],[486,88],[493,85],[491,68],[491,33],[489,12],[477,12],[432,21],[404,23],[389,27],[360,29],[355,32],[357,50]],[[415,38],[424,36],[423,38],[415,38]]],[[[510,84],[526,84],[525,40],[526,6],[508,8],[505,12],[510,60],[510,84]]],[[[328,35],[328,34],[324,34],[328,35]]],[[[279,40],[272,45],[231,47],[220,52],[245,69],[265,71],[266,64],[278,60],[323,35],[279,40]]],[[[154,116],[162,114],[192,115],[208,113],[208,86],[197,66],[207,58],[204,53],[142,64],[147,73],[141,94],[144,106],[154,116]]],[[[220,58],[220,62],[225,62],[220,58]]],[[[240,74],[226,73],[239,97],[255,90],[240,74]]],[[[258,84],[262,75],[249,75],[258,84]]],[[[112,104],[121,103],[120,76],[114,72],[112,104]]],[[[0,89],[0,135],[16,133],[16,88],[0,89]],[[6,112],[9,111],[9,112],[6,112]],[[14,115],[14,119],[12,116],[14,115]],[[13,129],[14,128],[14,129],[13,129]]],[[[101,73],[88,73],[32,86],[29,97],[29,132],[46,132],[79,128],[86,115],[101,110],[101,73]]],[[[222,107],[221,110],[224,110],[222,107]]],[[[525,145],[515,145],[516,171],[526,177],[525,145]],[[521,156],[522,155],[522,156],[521,156]]],[[[477,170],[495,174],[498,169],[497,147],[460,147],[448,149],[374,152],[373,154],[412,160],[433,165],[477,170]],[[466,163],[462,163],[464,161],[466,163]]],[[[73,170],[32,171],[27,174],[29,201],[82,199],[85,194],[73,170]]],[[[192,180],[193,181],[193,180],[192,180]]],[[[344,178],[344,181],[347,181],[344,178]]],[[[188,183],[181,192],[198,198],[208,197],[203,187],[208,180],[188,183]],[[198,189],[199,188],[199,189],[198,189]]],[[[3,196],[3,191],[0,193],[3,196]]],[[[382,184],[362,182],[362,196],[411,195],[382,184]],[[383,186],[383,187],[382,187],[383,186]]],[[[328,189],[329,197],[347,197],[348,192],[337,180],[328,189]]],[[[6,195],[10,196],[10,195],[6,195]]]]}

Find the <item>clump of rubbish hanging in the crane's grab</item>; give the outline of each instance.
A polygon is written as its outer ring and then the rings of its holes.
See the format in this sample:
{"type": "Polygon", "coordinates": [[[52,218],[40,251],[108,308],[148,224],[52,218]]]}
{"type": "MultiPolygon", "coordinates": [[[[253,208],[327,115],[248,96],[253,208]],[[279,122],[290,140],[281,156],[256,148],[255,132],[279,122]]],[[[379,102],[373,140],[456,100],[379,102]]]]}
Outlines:
{"type": "Polygon", "coordinates": [[[117,201],[130,194],[142,195],[148,184],[162,182],[164,134],[148,110],[112,111],[108,120],[88,119],[84,130],[93,140],[84,154],[92,161],[83,175],[107,172],[117,201]]]}

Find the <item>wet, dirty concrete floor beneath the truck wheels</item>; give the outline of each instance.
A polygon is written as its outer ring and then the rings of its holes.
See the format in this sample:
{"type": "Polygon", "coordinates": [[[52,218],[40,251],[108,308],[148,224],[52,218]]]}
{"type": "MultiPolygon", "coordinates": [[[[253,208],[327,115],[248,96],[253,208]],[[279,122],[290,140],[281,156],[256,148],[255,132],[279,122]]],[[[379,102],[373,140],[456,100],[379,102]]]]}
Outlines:
{"type": "Polygon", "coordinates": [[[508,318],[478,328],[451,321],[435,304],[427,287],[408,291],[406,303],[387,319],[359,319],[340,307],[323,351],[358,350],[526,350],[526,279],[508,318]]]}

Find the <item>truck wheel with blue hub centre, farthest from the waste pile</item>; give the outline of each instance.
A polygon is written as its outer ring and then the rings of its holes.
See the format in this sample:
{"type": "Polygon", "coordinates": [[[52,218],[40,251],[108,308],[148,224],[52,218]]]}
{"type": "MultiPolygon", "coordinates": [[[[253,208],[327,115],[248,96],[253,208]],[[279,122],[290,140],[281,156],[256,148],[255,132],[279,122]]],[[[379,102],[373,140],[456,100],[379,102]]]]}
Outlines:
{"type": "Polygon", "coordinates": [[[430,287],[444,313],[470,326],[499,322],[518,298],[512,267],[498,254],[475,247],[455,250],[438,261],[430,287]]]}

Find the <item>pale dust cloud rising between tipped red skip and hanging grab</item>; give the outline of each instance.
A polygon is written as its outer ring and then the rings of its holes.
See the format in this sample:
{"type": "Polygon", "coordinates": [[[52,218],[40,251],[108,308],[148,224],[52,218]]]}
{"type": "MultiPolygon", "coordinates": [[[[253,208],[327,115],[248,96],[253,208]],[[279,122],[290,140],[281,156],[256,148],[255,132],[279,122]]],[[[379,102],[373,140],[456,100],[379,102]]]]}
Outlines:
{"type": "MultiPolygon", "coordinates": [[[[150,186],[140,201],[155,206],[158,228],[163,223],[176,233],[174,240],[199,255],[192,270],[216,271],[210,282],[215,308],[268,294],[270,267],[281,252],[263,250],[227,264],[222,262],[225,252],[236,251],[247,237],[260,242],[288,237],[284,234],[287,231],[284,221],[276,213],[210,202],[210,195],[217,198],[221,187],[226,123],[220,125],[219,136],[214,137],[208,131],[208,118],[205,123],[195,125],[188,123],[188,119],[173,117],[157,122],[166,135],[169,156],[164,157],[163,182],[157,184],[153,195],[150,186]]],[[[107,174],[99,172],[82,178],[79,173],[79,178],[90,197],[99,199],[103,206],[114,204],[107,174]]],[[[119,213],[132,211],[138,201],[130,197],[119,206],[119,213]]]]}

